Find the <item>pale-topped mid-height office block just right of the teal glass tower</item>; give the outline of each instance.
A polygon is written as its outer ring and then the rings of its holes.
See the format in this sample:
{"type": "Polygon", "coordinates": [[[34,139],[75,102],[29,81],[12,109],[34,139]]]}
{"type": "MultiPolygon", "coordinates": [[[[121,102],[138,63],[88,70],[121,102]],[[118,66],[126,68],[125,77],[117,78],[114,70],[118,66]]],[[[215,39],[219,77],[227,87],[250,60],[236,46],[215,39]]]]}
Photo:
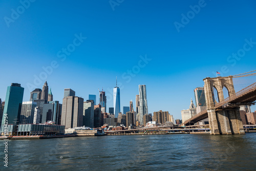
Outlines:
{"type": "Polygon", "coordinates": [[[20,112],[19,124],[33,124],[36,102],[22,102],[22,111],[20,112]]]}

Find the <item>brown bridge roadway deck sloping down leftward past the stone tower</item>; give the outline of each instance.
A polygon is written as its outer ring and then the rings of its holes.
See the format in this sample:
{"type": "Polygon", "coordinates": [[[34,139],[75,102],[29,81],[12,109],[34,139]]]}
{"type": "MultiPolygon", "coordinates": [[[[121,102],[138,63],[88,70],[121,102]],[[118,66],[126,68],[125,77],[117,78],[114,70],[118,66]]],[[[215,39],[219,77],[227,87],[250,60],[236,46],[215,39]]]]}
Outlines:
{"type": "MultiPolygon", "coordinates": [[[[215,104],[215,109],[225,109],[225,108],[232,108],[232,107],[239,107],[240,105],[248,104],[249,102],[253,102],[256,100],[256,82],[251,84],[250,86],[242,89],[241,91],[237,92],[236,94],[227,97],[221,102],[215,104]]],[[[188,123],[196,123],[200,120],[208,118],[207,109],[205,106],[205,110],[198,113],[197,115],[193,116],[192,118],[186,120],[184,124],[188,123]]]]}

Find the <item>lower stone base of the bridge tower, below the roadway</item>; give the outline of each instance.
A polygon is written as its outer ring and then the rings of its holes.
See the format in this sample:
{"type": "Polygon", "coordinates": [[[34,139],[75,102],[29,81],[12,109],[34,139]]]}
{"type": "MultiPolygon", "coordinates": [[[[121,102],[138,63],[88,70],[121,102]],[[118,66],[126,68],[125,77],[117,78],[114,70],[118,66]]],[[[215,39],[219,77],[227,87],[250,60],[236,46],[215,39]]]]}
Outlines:
{"type": "Polygon", "coordinates": [[[210,134],[244,134],[239,108],[208,110],[210,134]]]}

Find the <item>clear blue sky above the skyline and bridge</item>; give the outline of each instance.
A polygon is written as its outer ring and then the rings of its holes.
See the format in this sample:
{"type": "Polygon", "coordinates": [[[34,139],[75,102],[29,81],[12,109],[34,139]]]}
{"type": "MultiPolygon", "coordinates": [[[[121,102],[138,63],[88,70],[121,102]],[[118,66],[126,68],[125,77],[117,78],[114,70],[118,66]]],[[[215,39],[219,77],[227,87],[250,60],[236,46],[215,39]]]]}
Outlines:
{"type": "Polygon", "coordinates": [[[30,90],[41,89],[47,76],[54,100],[62,102],[65,88],[85,100],[103,88],[109,108],[117,76],[121,108],[135,102],[138,85],[146,84],[148,112],[169,111],[181,119],[205,77],[255,69],[255,43],[241,57],[232,57],[243,52],[247,40],[256,42],[255,1],[35,1],[20,6],[19,1],[0,3],[2,100],[7,86],[18,82],[29,101],[30,90]],[[65,55],[63,49],[70,51],[65,55]]]}

